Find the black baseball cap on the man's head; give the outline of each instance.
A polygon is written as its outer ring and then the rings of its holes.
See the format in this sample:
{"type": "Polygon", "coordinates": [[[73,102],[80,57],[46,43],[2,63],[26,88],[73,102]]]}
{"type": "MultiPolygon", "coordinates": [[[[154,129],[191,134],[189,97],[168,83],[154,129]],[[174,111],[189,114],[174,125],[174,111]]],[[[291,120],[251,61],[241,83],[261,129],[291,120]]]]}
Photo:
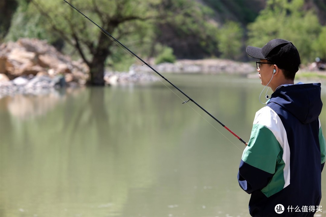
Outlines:
{"type": "Polygon", "coordinates": [[[289,72],[296,73],[301,63],[297,48],[284,39],[273,39],[262,48],[248,46],[246,52],[253,58],[268,60],[289,72]]]}

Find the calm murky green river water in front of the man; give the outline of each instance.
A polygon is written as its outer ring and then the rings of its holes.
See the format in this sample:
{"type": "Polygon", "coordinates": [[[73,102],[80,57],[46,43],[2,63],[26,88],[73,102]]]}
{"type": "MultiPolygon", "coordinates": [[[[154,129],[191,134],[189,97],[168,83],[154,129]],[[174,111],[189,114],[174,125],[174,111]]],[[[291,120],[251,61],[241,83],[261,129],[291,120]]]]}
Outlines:
{"type": "MultiPolygon", "coordinates": [[[[248,141],[258,78],[165,76],[248,141]]],[[[165,84],[0,99],[0,216],[249,216],[244,144],[165,84]]]]}

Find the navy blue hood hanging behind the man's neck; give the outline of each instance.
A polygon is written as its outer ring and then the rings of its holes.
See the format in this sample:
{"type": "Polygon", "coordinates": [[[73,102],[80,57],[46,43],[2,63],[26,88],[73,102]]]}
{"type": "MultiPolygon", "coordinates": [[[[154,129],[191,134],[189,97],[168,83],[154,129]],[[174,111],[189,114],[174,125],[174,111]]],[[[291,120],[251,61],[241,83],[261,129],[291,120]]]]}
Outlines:
{"type": "Polygon", "coordinates": [[[323,106],[320,91],[320,83],[283,86],[272,94],[267,105],[279,104],[302,123],[311,123],[318,118],[323,106]]]}

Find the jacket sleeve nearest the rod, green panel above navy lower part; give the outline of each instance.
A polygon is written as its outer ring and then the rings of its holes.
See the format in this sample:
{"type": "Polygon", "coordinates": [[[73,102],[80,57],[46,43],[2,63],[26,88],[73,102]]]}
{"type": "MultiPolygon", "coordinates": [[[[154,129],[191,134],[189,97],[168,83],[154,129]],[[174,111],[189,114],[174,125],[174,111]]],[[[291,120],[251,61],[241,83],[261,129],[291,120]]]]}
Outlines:
{"type": "Polygon", "coordinates": [[[282,155],[279,142],[273,132],[260,123],[257,113],[238,172],[239,185],[248,194],[264,188],[269,183],[275,173],[276,163],[282,155]]]}

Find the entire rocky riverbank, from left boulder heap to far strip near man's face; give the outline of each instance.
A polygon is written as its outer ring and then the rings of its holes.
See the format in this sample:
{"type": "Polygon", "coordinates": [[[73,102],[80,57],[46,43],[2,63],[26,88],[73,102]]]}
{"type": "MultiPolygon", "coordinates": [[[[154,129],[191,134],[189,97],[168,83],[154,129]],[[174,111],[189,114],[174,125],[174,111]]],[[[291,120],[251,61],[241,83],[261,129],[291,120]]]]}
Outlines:
{"type": "MultiPolygon", "coordinates": [[[[148,63],[159,73],[237,74],[256,72],[254,63],[223,59],[178,60],[175,63],[148,63]]],[[[57,88],[84,86],[89,68],[73,61],[44,40],[22,38],[0,45],[0,97],[15,94],[47,93],[57,88]]],[[[105,72],[107,85],[154,82],[160,79],[146,65],[133,64],[128,72],[105,72]]]]}

